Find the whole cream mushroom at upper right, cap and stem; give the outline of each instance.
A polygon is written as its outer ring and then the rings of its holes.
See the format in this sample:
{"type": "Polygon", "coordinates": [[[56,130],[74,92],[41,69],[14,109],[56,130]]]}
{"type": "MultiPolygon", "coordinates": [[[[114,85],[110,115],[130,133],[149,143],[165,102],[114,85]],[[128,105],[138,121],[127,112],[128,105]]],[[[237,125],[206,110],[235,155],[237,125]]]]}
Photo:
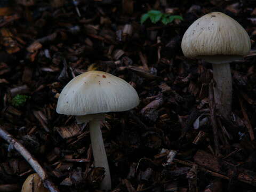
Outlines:
{"type": "Polygon", "coordinates": [[[249,35],[233,18],[212,12],[192,23],[182,38],[181,49],[186,57],[212,63],[215,103],[220,114],[230,118],[232,79],[229,62],[243,59],[250,52],[249,35]]]}

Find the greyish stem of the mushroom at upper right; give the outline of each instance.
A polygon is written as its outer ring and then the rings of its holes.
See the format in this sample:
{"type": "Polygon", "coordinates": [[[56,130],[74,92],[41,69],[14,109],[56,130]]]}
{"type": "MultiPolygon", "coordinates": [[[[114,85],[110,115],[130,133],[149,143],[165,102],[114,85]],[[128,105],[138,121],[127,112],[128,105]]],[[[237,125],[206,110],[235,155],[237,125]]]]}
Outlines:
{"type": "Polygon", "coordinates": [[[214,100],[220,114],[229,119],[232,103],[232,77],[229,63],[212,64],[214,86],[214,100]]]}

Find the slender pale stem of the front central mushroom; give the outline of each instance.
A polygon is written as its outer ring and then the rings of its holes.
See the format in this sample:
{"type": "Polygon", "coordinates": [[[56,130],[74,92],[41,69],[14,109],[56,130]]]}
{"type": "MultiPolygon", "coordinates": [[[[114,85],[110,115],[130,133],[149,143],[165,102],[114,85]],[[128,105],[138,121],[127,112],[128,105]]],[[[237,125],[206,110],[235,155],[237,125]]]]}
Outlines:
{"type": "Polygon", "coordinates": [[[101,182],[101,189],[106,191],[111,189],[111,178],[108,166],[108,159],[105,151],[105,146],[103,143],[102,133],[100,130],[100,121],[98,119],[93,119],[90,121],[90,136],[92,143],[92,153],[94,158],[94,163],[96,167],[104,167],[105,178],[101,182]]]}

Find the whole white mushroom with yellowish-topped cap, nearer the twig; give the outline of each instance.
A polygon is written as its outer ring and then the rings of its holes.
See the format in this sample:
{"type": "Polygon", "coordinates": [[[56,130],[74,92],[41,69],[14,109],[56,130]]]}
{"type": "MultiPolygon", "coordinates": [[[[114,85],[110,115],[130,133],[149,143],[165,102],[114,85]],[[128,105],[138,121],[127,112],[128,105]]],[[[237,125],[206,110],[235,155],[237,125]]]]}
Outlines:
{"type": "Polygon", "coordinates": [[[135,89],[123,79],[102,71],[88,71],[73,78],[61,91],[57,113],[75,115],[78,124],[90,125],[95,166],[104,167],[101,189],[111,189],[107,155],[100,130],[103,113],[130,110],[139,105],[135,89]]]}

